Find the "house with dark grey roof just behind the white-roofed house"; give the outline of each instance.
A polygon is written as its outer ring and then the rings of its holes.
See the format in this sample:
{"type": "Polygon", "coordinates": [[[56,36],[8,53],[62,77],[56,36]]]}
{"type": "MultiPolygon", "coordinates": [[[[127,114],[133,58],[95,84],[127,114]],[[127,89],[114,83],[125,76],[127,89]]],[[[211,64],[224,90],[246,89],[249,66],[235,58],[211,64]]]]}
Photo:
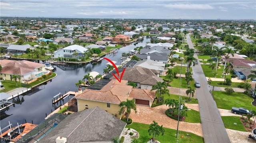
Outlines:
{"type": "Polygon", "coordinates": [[[166,53],[154,52],[154,53],[150,53],[150,54],[139,54],[136,56],[138,58],[140,58],[140,60],[142,60],[142,61],[151,59],[152,61],[156,61],[158,63],[164,63],[164,64],[166,64],[168,61],[168,56],[166,53]]]}

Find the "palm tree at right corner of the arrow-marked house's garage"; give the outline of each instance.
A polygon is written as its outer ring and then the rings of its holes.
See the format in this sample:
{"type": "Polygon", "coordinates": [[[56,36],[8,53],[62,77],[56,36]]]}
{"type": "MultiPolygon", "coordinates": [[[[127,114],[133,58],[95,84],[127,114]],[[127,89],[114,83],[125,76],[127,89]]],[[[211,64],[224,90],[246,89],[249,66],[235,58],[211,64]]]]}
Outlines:
{"type": "Polygon", "coordinates": [[[157,96],[157,100],[158,100],[158,103],[161,103],[161,94],[169,94],[169,90],[166,89],[167,88],[167,84],[166,82],[156,82],[156,85],[153,85],[152,86],[152,90],[156,90],[156,96],[157,96]]]}

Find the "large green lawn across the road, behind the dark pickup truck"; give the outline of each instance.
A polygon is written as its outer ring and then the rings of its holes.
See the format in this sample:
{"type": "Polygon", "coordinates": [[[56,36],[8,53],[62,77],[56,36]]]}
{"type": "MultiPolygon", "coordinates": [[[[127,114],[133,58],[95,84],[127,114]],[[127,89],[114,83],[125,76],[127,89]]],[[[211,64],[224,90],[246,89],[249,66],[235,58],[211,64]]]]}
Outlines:
{"type": "Polygon", "coordinates": [[[229,95],[226,91],[212,91],[212,94],[218,108],[231,110],[232,107],[243,107],[256,111],[256,106],[251,104],[253,99],[243,93],[234,92],[229,95]]]}

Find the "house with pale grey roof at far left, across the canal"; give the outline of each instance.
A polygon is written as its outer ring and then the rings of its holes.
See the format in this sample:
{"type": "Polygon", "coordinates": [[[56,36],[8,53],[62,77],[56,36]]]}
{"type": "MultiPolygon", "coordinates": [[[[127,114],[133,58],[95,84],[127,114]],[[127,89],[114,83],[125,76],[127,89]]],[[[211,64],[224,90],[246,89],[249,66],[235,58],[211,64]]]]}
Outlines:
{"type": "Polygon", "coordinates": [[[33,46],[30,46],[29,44],[26,44],[26,45],[13,45],[13,44],[10,44],[10,46],[7,48],[7,52],[8,53],[12,53],[13,55],[14,54],[18,54],[18,53],[25,53],[27,49],[36,49],[35,47],[33,46]]]}

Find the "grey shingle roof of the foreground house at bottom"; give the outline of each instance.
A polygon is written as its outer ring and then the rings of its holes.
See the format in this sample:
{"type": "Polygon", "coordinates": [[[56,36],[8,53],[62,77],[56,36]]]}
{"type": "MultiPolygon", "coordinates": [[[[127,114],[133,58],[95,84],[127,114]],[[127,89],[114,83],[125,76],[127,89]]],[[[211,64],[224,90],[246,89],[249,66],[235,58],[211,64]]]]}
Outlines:
{"type": "Polygon", "coordinates": [[[114,137],[122,137],[125,126],[124,121],[95,106],[68,115],[38,143],[112,143],[114,137]]]}

